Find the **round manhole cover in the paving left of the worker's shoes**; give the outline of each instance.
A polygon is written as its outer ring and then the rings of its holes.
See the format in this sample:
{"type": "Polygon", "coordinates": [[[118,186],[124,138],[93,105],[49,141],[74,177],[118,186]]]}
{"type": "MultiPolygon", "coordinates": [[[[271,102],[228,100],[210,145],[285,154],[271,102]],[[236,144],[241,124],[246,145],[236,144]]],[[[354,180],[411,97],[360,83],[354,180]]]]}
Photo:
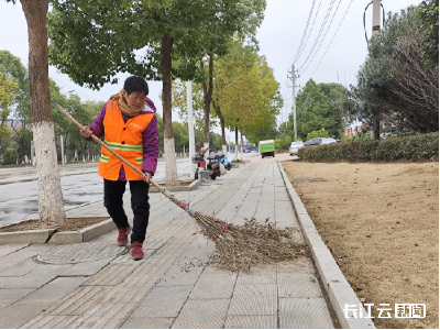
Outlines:
{"type": "Polygon", "coordinates": [[[36,258],[46,264],[66,265],[116,257],[124,253],[125,246],[98,242],[59,246],[41,253],[36,258]]]}

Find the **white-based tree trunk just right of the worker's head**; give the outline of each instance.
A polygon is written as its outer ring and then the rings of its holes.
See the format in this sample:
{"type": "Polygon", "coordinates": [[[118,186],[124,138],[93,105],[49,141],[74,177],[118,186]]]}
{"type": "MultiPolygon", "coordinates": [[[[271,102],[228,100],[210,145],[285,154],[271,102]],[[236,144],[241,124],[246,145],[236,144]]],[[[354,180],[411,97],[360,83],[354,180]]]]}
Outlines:
{"type": "Polygon", "coordinates": [[[165,185],[168,187],[178,186],[176,145],[173,132],[173,107],[172,107],[172,68],[174,40],[165,35],[162,40],[162,102],[164,108],[164,146],[165,146],[165,185]]]}

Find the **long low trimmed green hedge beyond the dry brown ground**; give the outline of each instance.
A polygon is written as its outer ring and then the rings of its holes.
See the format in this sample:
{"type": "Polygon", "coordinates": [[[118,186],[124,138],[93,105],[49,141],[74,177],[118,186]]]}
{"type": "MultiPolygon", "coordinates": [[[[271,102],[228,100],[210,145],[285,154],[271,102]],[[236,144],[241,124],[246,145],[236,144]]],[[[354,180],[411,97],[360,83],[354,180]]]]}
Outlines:
{"type": "Polygon", "coordinates": [[[311,146],[301,148],[298,157],[310,162],[438,162],[439,133],[311,146]]]}

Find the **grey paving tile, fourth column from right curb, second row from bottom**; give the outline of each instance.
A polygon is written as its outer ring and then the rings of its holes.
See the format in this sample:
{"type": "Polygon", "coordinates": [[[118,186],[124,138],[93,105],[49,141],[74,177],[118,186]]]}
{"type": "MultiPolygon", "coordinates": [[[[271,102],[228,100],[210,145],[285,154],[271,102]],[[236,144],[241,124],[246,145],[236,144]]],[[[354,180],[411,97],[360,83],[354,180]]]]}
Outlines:
{"type": "Polygon", "coordinates": [[[191,286],[156,287],[130,318],[176,318],[191,289],[191,286]]]}

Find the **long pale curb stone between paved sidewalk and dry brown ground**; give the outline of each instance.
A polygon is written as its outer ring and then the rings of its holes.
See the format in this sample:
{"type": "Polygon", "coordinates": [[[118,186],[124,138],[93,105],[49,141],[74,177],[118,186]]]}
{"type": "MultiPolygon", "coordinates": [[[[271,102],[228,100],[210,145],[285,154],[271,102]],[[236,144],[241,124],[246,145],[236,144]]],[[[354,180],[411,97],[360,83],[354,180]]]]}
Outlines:
{"type": "MultiPolygon", "coordinates": [[[[321,280],[338,316],[340,324],[343,329],[376,329],[372,319],[355,318],[355,315],[352,311],[349,312],[350,318],[345,318],[344,309],[346,305],[362,306],[362,302],[353,292],[345,276],[342,274],[342,271],[338,266],[330,250],[322,241],[314,221],[307,212],[306,207],[288,179],[282,163],[277,163],[307,243],[312,251],[315,264],[319,271],[319,275],[321,276],[321,280]]],[[[365,311],[364,315],[367,315],[367,312],[365,311]]]]}

